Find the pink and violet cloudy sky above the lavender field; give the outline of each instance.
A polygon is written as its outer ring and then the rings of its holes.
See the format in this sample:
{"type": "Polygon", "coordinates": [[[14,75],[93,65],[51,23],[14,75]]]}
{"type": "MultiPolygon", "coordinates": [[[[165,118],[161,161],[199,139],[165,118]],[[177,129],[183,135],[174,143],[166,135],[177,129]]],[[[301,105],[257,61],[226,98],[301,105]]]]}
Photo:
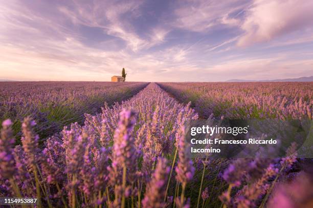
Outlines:
{"type": "Polygon", "coordinates": [[[313,1],[0,0],[0,79],[222,82],[313,75],[313,1]]]}

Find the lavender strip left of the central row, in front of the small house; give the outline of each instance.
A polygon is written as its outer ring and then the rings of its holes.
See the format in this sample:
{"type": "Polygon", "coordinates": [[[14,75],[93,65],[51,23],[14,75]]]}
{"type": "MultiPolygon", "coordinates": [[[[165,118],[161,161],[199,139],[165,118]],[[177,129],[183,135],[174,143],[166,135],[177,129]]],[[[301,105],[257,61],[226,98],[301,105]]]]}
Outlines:
{"type": "Polygon", "coordinates": [[[101,111],[104,102],[127,99],[147,83],[111,82],[0,82],[0,122],[10,118],[20,137],[21,120],[32,116],[36,132],[46,138],[64,125],[82,123],[84,113],[101,111]]]}

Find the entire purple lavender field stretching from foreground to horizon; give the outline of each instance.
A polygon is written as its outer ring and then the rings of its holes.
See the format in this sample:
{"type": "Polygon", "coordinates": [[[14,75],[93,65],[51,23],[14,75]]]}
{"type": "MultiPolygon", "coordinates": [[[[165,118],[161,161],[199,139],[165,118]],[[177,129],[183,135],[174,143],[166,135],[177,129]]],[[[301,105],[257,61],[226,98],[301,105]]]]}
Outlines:
{"type": "Polygon", "coordinates": [[[310,121],[313,83],[6,85],[0,197],[34,197],[37,207],[313,204],[312,166],[304,170],[308,160],[297,158],[295,145],[277,159],[195,160],[184,133],[185,121],[198,118],[310,121]],[[39,136],[50,121],[72,123],[51,129],[48,139],[39,136]],[[21,144],[15,145],[19,126],[21,144]]]}

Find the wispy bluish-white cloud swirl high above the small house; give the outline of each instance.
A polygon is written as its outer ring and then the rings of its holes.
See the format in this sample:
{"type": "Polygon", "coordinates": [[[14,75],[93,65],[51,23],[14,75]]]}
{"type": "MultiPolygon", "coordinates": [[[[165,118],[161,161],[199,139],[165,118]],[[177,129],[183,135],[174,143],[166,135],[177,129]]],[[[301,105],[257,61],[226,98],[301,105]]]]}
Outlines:
{"type": "Polygon", "coordinates": [[[75,1],[75,7],[68,9],[59,7],[59,11],[68,16],[74,24],[97,27],[111,36],[126,42],[132,51],[139,51],[163,42],[169,32],[161,27],[148,31],[149,39],[138,35],[133,21],[142,15],[141,6],[144,1],[95,1],[86,6],[84,1],[75,1]]]}

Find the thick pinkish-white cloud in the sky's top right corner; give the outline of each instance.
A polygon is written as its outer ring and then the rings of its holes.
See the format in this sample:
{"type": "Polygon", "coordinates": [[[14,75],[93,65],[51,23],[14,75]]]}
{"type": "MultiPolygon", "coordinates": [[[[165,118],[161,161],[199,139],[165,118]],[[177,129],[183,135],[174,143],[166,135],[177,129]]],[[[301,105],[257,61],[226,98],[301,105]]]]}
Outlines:
{"type": "Polygon", "coordinates": [[[255,1],[241,24],[245,34],[237,45],[249,46],[278,36],[312,28],[313,1],[255,1]]]}

